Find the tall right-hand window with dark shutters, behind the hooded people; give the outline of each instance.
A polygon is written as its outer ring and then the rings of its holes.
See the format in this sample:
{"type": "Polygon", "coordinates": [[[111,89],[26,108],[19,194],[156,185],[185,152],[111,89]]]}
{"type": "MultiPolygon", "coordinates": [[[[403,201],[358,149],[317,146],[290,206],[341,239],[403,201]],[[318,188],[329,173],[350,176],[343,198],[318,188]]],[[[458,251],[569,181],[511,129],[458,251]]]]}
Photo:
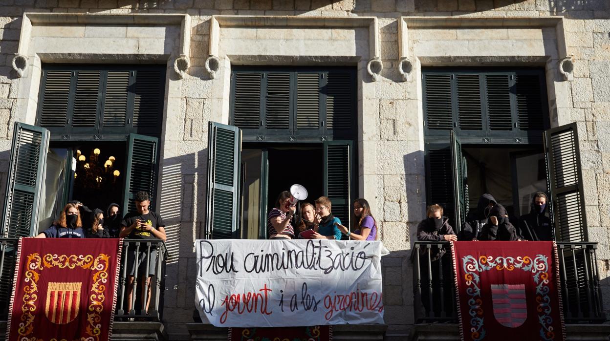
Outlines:
{"type": "Polygon", "coordinates": [[[501,169],[496,199],[509,213],[527,213],[523,193],[544,188],[555,239],[587,240],[576,124],[548,129],[544,71],[428,68],[422,77],[428,204],[445,207],[459,231],[479,195],[496,196],[485,181],[501,169]]]}

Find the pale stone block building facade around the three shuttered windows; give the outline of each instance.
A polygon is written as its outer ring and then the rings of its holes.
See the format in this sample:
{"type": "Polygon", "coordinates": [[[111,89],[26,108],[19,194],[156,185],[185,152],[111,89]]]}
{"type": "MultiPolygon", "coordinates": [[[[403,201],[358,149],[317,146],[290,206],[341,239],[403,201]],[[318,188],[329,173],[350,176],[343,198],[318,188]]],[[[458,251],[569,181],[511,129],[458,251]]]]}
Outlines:
{"type": "Polygon", "coordinates": [[[206,235],[208,122],[229,123],[232,68],[350,66],[354,186],[391,251],[382,260],[386,337],[404,340],[414,323],[409,255],[430,204],[422,70],[536,67],[550,127],[578,126],[587,231],[610,300],[609,34],[601,0],[0,0],[0,193],[13,124],[37,122],[45,65],[166,66],[156,198],[170,249],[163,320],[171,339],[188,339],[193,241],[206,235]]]}

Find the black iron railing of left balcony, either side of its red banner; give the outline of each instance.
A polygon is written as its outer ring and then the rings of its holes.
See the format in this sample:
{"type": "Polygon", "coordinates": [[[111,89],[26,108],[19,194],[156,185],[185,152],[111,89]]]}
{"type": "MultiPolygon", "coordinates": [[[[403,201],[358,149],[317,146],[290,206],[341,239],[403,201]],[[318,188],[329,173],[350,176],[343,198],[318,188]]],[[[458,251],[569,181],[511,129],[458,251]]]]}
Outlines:
{"type": "MultiPolygon", "coordinates": [[[[18,239],[0,239],[0,320],[7,320],[9,315],[17,245],[18,239]]],[[[165,259],[167,259],[167,250],[163,242],[158,239],[123,240],[115,320],[162,320],[165,259]],[[154,256],[155,254],[157,255],[156,257],[154,256]],[[135,267],[138,263],[140,266],[135,267]],[[132,286],[136,290],[135,294],[131,295],[131,304],[129,304],[130,301],[127,299],[132,287],[129,285],[129,282],[131,273],[135,273],[135,271],[132,271],[134,267],[138,269],[138,276],[134,276],[133,279],[132,286]],[[148,289],[148,281],[142,285],[142,279],[145,279],[146,275],[152,275],[148,309],[146,309],[146,304],[143,304],[143,302],[145,303],[149,300],[148,290],[146,290],[148,289]]]]}

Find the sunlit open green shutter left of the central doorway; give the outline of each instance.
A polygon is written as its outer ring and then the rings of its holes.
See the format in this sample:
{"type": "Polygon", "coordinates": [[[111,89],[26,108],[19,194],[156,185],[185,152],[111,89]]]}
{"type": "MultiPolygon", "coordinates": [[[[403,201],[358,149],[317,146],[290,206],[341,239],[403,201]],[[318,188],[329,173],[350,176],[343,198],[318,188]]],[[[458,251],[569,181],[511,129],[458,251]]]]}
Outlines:
{"type": "Polygon", "coordinates": [[[207,134],[206,237],[237,238],[241,131],[210,121],[207,134]]]}

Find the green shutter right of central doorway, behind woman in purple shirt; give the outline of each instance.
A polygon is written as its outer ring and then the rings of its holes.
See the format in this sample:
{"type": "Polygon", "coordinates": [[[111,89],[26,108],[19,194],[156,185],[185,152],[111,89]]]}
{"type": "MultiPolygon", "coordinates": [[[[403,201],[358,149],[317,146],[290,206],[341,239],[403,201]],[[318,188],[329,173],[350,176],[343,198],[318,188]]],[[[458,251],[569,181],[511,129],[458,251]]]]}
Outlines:
{"type": "Polygon", "coordinates": [[[331,199],[332,214],[350,226],[353,142],[324,143],[324,195],[331,199]]]}

